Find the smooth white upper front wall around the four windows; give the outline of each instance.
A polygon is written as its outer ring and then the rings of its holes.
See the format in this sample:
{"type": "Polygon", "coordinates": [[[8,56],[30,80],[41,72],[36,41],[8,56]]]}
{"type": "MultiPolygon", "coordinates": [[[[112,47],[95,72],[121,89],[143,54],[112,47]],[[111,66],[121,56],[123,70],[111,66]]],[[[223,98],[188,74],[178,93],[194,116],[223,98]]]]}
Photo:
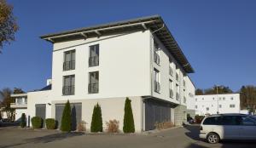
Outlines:
{"type": "Polygon", "coordinates": [[[150,94],[149,31],[55,43],[52,66],[54,100],[82,100],[150,94]],[[89,46],[99,44],[99,66],[89,67],[89,46]],[[78,45],[78,46],[75,46],[78,45]],[[73,46],[73,47],[70,47],[73,46]],[[64,48],[64,49],[63,49],[64,48]],[[62,71],[63,53],[76,50],[76,67],[62,71]],[[99,93],[88,94],[90,71],[99,71],[99,93]],[[75,94],[62,95],[62,77],[75,75],[75,94]]]}

